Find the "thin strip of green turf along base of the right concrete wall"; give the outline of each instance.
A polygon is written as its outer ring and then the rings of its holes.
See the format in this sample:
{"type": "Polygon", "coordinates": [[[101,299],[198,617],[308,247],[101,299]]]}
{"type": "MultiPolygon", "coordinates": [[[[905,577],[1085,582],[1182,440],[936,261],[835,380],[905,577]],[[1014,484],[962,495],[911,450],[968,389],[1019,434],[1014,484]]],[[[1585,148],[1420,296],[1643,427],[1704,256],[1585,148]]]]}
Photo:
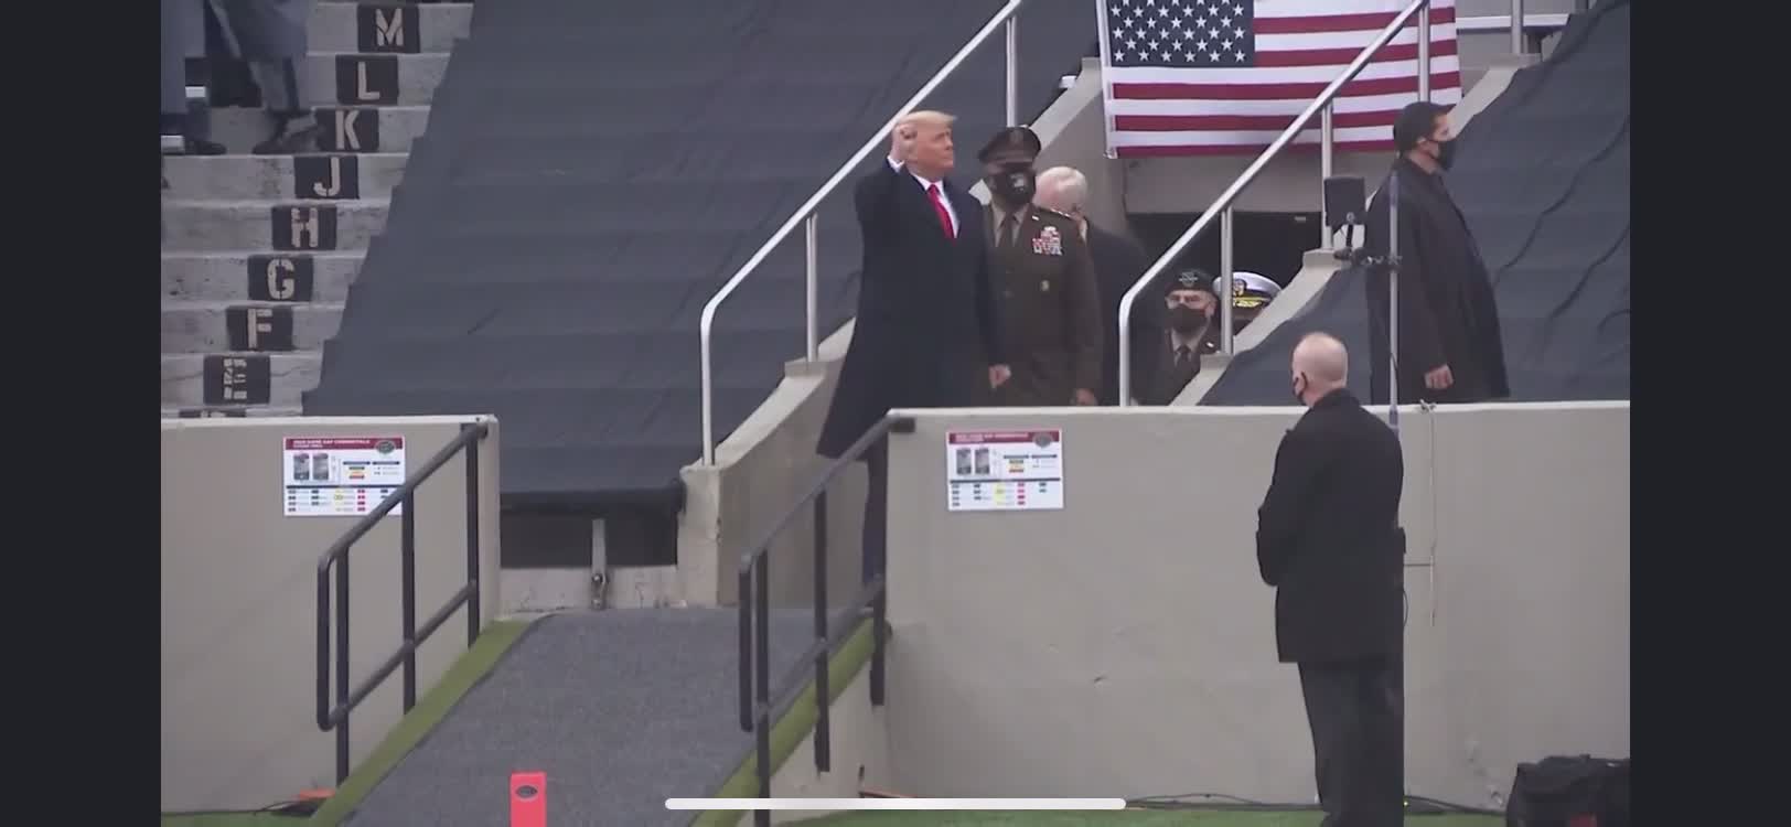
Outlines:
{"type": "MultiPolygon", "coordinates": [[[[867,811],[793,822],[802,827],[1318,827],[1318,811],[1236,813],[1236,811],[1150,811],[1118,813],[924,813],[867,811]]],[[[1406,816],[1406,827],[1503,827],[1499,816],[1406,816]]]]}

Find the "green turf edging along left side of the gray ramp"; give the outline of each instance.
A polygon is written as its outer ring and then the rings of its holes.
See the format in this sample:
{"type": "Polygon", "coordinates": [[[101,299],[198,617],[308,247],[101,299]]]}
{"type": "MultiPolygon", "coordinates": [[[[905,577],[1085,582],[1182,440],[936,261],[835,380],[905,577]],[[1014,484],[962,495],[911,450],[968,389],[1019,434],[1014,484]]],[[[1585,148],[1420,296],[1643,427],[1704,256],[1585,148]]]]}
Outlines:
{"type": "Polygon", "coordinates": [[[498,666],[503,653],[528,630],[530,621],[493,621],[473,641],[433,689],[392,727],[380,746],[362,761],[347,780],[310,818],[279,813],[181,813],[163,814],[161,827],[270,827],[270,825],[335,825],[347,818],[362,798],[373,791],[385,773],[398,766],[423,737],[433,730],[467,691],[498,666]]]}

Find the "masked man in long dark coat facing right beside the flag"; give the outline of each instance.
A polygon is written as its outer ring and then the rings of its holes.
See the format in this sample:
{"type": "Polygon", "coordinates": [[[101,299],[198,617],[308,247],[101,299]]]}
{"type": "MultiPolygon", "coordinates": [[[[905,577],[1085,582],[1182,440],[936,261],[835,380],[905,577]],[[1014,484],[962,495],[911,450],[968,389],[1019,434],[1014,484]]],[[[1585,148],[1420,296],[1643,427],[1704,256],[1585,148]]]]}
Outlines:
{"type": "MultiPolygon", "coordinates": [[[[1393,124],[1388,179],[1399,177],[1399,401],[1474,403],[1512,396],[1492,276],[1461,209],[1444,186],[1454,158],[1447,109],[1406,106],[1393,124]]],[[[1386,256],[1388,181],[1368,204],[1363,249],[1386,256]]],[[[1368,294],[1368,399],[1386,403],[1388,279],[1375,269],[1368,294]]]]}

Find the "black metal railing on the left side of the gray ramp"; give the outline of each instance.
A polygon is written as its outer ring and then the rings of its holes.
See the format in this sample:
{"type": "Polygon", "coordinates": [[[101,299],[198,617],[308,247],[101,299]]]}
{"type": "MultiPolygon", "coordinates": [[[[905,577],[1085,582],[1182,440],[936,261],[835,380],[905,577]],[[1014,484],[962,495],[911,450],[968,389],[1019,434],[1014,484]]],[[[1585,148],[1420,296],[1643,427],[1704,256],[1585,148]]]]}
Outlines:
{"type": "Polygon", "coordinates": [[[317,729],[337,734],[337,784],[347,779],[349,759],[349,727],[347,718],[367,700],[380,684],[385,682],[398,671],[399,666],[405,669],[405,712],[410,712],[417,705],[417,648],[423,641],[428,641],[437,628],[448,623],[457,609],[466,607],[466,644],[473,646],[478,639],[480,627],[480,607],[478,607],[478,444],[491,433],[491,426],[485,422],[467,422],[460,426],[460,433],[455,435],[451,442],[435,456],[430,456],[398,490],[392,490],[376,508],[367,512],[355,528],[349,528],[342,539],[335,541],[322,558],[317,560],[317,729]],[[460,451],[466,451],[466,584],[448,598],[435,614],[430,616],[423,627],[417,627],[417,487],[423,485],[430,474],[441,471],[448,460],[455,458],[460,451]],[[362,539],[371,532],[392,508],[403,505],[405,510],[399,514],[401,535],[399,535],[399,580],[403,596],[399,614],[403,618],[403,644],[392,657],[387,657],[378,669],[373,671],[365,680],[349,687],[349,612],[347,612],[347,585],[349,585],[349,564],[347,551],[355,546],[355,541],[362,539]],[[330,703],[330,569],[335,567],[335,705],[330,703]]]}

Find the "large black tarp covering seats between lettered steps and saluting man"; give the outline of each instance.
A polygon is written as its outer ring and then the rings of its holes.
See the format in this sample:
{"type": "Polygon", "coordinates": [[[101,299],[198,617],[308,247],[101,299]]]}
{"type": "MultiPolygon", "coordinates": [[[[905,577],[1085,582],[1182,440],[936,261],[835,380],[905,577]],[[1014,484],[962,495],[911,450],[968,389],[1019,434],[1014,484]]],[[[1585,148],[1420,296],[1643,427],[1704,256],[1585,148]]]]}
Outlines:
{"type": "MultiPolygon", "coordinates": [[[[304,412],[489,412],[507,503],[675,501],[702,453],[702,304],[999,5],[480,4],[304,412]]],[[[1094,9],[1033,0],[1019,32],[1030,118],[1094,9]]],[[[1003,66],[998,30],[922,104],[960,116],[964,184],[1003,122],[1003,66]]],[[[822,338],[851,317],[858,256],[847,181],[820,213],[822,338]]],[[[718,440],[802,356],[802,277],[799,227],[722,304],[718,440]]]]}

